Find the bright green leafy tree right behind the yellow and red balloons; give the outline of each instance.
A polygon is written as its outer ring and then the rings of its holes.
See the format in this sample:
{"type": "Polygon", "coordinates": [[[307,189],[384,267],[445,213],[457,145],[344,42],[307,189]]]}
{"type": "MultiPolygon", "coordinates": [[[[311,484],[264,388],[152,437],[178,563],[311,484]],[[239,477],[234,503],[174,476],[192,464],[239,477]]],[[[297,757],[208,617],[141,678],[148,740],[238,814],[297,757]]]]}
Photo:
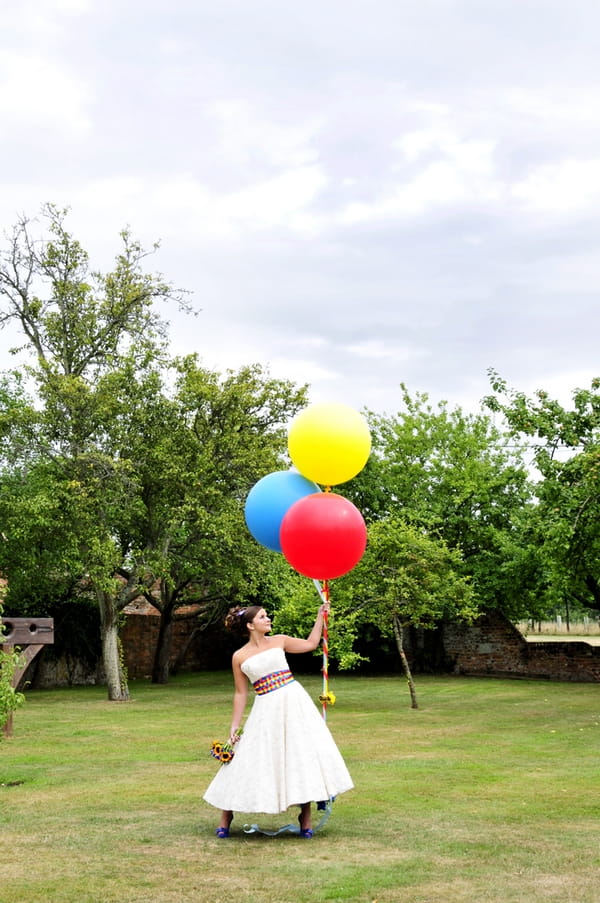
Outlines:
{"type": "Polygon", "coordinates": [[[389,516],[460,550],[478,603],[520,609],[507,560],[518,555],[531,487],[521,451],[489,415],[433,408],[402,387],[395,416],[369,413],[373,454],[347,494],[370,522],[389,516]]]}

